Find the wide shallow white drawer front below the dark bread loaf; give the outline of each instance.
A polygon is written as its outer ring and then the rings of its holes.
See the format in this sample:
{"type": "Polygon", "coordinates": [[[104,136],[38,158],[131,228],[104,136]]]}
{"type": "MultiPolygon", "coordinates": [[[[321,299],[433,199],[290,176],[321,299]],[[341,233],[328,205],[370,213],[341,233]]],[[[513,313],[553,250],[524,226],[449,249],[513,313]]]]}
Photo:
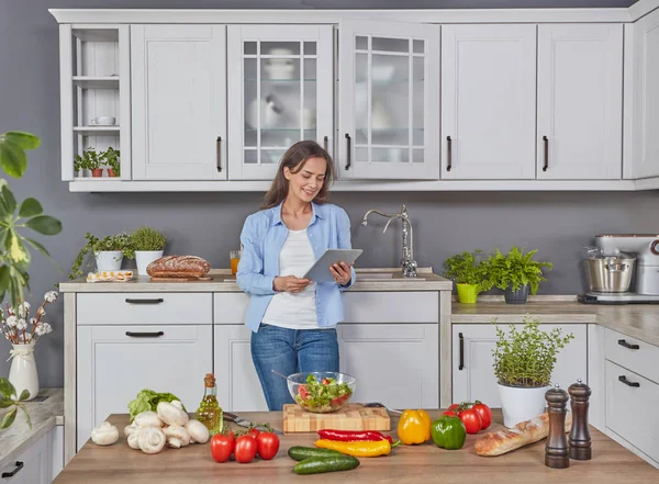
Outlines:
{"type": "Polygon", "coordinates": [[[189,325],[213,323],[212,293],[78,294],[78,325],[189,325]]]}

